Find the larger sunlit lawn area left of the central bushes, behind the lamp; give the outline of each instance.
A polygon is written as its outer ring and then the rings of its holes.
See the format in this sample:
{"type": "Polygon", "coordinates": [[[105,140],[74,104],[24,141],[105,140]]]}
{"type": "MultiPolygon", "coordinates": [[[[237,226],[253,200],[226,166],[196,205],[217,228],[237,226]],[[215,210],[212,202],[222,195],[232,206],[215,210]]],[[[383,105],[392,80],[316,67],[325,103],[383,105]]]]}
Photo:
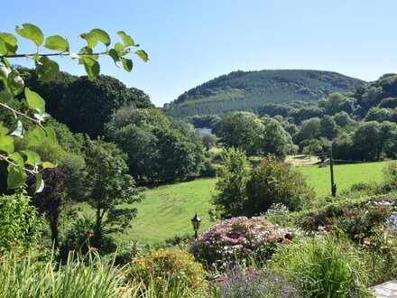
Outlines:
{"type": "Polygon", "coordinates": [[[145,199],[133,206],[138,209],[134,227],[120,235],[124,241],[142,239],[149,244],[177,235],[193,234],[190,219],[198,212],[200,230],[210,227],[208,210],[215,179],[199,179],[164,185],[145,192],[145,199]]]}

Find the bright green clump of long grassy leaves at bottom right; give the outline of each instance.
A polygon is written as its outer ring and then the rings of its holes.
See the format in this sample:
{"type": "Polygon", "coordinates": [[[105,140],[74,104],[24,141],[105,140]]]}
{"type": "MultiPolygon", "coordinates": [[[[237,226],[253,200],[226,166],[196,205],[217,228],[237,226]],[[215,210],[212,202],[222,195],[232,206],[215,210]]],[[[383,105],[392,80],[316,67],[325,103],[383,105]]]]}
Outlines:
{"type": "Polygon", "coordinates": [[[328,233],[280,247],[272,257],[274,270],[300,283],[304,297],[362,297],[368,285],[362,265],[346,239],[328,233]]]}

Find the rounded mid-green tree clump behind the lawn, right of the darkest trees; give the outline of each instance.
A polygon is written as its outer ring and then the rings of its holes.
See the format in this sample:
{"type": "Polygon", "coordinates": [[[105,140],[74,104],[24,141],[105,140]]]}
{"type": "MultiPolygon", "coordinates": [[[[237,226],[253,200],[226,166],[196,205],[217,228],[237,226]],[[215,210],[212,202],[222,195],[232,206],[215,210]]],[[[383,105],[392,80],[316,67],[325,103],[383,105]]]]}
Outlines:
{"type": "Polygon", "coordinates": [[[138,182],[171,182],[203,170],[199,136],[158,109],[123,107],[106,124],[106,135],[128,154],[129,172],[138,182]]]}

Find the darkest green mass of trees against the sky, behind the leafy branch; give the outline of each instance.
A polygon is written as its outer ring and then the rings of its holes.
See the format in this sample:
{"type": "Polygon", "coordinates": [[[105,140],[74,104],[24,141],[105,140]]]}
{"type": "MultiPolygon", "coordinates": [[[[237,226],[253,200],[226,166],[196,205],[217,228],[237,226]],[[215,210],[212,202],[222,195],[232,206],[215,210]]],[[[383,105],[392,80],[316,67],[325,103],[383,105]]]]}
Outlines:
{"type": "Polygon", "coordinates": [[[152,107],[149,97],[127,88],[118,79],[100,75],[96,79],[61,72],[51,82],[42,82],[33,70],[19,70],[25,83],[46,100],[51,116],[74,133],[104,135],[104,125],[120,107],[152,107]]]}

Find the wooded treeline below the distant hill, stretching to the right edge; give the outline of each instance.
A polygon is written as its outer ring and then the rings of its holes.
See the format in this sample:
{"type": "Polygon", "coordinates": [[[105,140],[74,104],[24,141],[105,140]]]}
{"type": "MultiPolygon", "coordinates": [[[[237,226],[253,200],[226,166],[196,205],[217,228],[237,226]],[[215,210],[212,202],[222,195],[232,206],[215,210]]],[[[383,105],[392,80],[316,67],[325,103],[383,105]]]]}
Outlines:
{"type": "Polygon", "coordinates": [[[267,108],[257,115],[233,112],[224,116],[190,116],[186,121],[196,127],[212,128],[220,136],[220,142],[242,147],[248,154],[274,153],[274,149],[263,151],[263,140],[269,142],[269,137],[263,134],[264,128],[258,126],[259,122],[264,124],[272,118],[283,130],[272,129],[280,132],[274,134],[279,135],[277,140],[283,140],[288,134],[296,145],[294,150],[288,149],[293,148],[289,145],[279,149],[284,153],[288,150],[290,153],[328,153],[332,144],[335,156],[341,160],[397,158],[396,74],[383,75],[355,92],[331,93],[316,103],[269,104],[267,108]]]}

